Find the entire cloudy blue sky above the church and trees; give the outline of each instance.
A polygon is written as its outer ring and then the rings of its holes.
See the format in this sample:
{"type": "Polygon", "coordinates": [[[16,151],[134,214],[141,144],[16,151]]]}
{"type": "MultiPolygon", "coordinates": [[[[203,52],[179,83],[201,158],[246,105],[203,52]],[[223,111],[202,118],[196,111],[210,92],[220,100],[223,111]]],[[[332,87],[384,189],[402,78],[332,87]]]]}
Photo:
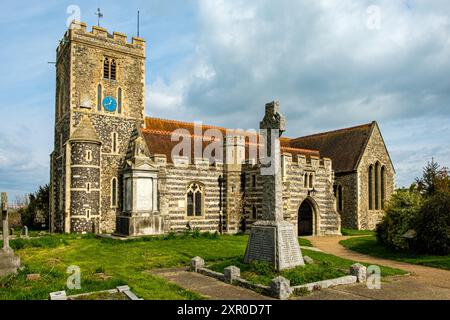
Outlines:
{"type": "Polygon", "coordinates": [[[285,136],[378,121],[397,186],[450,167],[447,0],[1,0],[0,190],[49,181],[58,41],[74,17],[147,41],[146,114],[285,136]]]}

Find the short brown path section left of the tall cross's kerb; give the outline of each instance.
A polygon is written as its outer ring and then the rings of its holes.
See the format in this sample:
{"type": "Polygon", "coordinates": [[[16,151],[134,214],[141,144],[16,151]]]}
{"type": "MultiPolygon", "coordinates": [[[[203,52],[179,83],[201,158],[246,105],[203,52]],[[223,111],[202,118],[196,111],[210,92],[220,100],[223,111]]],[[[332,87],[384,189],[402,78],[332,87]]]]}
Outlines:
{"type": "Polygon", "coordinates": [[[152,274],[176,283],[187,290],[197,292],[211,300],[269,300],[254,291],[233,286],[186,268],[156,269],[152,274]]]}

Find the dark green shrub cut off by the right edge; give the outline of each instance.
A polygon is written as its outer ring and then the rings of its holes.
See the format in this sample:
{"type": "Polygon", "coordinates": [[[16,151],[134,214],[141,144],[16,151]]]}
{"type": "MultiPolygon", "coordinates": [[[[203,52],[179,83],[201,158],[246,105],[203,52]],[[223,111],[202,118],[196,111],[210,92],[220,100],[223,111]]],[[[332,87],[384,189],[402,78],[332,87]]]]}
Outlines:
{"type": "Polygon", "coordinates": [[[450,254],[450,194],[431,196],[420,209],[417,247],[430,254],[450,254]]]}

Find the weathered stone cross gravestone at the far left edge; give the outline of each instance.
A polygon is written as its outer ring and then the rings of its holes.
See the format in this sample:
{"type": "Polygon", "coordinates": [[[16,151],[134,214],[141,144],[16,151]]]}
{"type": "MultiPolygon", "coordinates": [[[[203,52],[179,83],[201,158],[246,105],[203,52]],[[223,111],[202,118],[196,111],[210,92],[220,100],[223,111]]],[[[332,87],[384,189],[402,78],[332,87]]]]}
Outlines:
{"type": "Polygon", "coordinates": [[[3,225],[3,248],[0,250],[0,277],[11,273],[16,273],[20,267],[20,258],[14,255],[14,251],[9,246],[8,228],[8,200],[6,192],[2,192],[1,211],[3,225]]]}

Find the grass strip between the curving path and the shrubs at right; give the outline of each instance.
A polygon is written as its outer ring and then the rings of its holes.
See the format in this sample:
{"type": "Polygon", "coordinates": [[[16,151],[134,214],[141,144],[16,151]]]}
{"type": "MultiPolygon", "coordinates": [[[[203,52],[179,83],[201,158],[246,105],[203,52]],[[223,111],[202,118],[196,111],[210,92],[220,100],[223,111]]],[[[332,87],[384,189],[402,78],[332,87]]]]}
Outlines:
{"type": "Polygon", "coordinates": [[[450,270],[450,255],[433,256],[394,251],[378,244],[375,236],[351,238],[341,241],[340,244],[347,249],[374,257],[450,270]]]}

